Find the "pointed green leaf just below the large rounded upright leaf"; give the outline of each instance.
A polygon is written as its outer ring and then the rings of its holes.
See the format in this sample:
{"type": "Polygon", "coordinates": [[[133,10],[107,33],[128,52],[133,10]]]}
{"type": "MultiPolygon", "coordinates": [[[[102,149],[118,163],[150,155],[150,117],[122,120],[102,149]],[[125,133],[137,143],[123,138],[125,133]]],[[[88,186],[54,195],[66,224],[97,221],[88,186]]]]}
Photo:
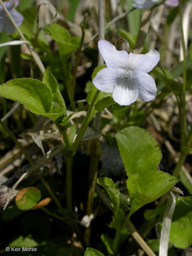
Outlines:
{"type": "Polygon", "coordinates": [[[127,189],[132,198],[129,216],[146,203],[163,196],[177,181],[177,178],[163,171],[142,171],[132,174],[127,180],[127,189]]]}

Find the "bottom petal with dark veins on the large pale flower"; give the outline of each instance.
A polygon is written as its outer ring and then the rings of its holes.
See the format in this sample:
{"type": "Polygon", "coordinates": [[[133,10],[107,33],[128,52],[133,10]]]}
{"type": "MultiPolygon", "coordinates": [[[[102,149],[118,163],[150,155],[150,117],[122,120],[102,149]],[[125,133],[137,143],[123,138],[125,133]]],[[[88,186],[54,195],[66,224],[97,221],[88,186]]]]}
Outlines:
{"type": "MultiPolygon", "coordinates": [[[[132,71],[129,71],[129,73],[132,73],[132,71]]],[[[134,79],[133,75],[127,79],[119,77],[116,80],[112,97],[119,105],[132,104],[137,100],[138,95],[137,80],[134,79]]]]}

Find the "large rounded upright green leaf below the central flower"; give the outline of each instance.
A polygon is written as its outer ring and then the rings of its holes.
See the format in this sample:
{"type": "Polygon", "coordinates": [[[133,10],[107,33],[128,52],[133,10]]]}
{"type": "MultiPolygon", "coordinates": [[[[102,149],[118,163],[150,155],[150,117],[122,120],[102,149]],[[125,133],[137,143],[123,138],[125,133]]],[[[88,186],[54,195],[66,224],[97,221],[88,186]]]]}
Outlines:
{"type": "Polygon", "coordinates": [[[161,160],[161,151],[154,137],[139,127],[127,127],[116,134],[127,176],[154,171],[161,160]]]}

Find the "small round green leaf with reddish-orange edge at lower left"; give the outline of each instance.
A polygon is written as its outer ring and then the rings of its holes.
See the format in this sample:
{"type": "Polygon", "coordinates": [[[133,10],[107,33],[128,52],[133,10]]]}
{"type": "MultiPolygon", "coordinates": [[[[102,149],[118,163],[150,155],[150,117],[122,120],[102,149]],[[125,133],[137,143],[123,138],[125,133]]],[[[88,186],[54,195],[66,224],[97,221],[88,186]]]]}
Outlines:
{"type": "Polygon", "coordinates": [[[20,210],[29,210],[36,206],[41,198],[41,193],[36,188],[24,188],[16,196],[16,206],[20,210]]]}

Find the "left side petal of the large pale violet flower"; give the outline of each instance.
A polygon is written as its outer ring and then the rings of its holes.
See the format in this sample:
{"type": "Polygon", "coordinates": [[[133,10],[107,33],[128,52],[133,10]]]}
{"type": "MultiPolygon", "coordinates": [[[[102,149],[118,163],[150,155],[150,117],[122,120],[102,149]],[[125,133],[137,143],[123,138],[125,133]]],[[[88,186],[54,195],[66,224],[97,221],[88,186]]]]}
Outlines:
{"type": "Polygon", "coordinates": [[[118,76],[118,68],[103,68],[97,73],[92,82],[98,90],[112,92],[118,76]]]}

